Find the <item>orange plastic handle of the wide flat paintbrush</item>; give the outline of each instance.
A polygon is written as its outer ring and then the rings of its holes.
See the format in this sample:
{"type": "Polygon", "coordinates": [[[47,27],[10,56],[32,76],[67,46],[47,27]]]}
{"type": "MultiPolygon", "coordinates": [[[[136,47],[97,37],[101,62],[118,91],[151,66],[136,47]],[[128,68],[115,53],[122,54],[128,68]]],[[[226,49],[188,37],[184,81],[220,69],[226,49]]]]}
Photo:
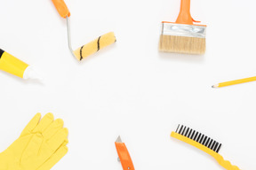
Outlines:
{"type": "Polygon", "coordinates": [[[200,22],[196,21],[191,17],[190,14],[190,0],[181,0],[180,4],[180,14],[176,20],[177,24],[188,24],[193,25],[194,22],[200,22]]]}

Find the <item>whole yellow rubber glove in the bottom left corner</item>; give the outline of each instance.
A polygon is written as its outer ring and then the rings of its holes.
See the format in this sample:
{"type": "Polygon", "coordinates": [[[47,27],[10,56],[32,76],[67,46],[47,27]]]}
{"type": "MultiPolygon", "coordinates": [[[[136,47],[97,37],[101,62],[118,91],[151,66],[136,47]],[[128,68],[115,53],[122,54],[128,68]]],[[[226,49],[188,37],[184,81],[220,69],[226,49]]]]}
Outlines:
{"type": "Polygon", "coordinates": [[[41,114],[28,123],[20,137],[0,153],[0,170],[49,170],[68,151],[68,129],[63,120],[53,120],[48,113],[39,122],[41,114]]]}

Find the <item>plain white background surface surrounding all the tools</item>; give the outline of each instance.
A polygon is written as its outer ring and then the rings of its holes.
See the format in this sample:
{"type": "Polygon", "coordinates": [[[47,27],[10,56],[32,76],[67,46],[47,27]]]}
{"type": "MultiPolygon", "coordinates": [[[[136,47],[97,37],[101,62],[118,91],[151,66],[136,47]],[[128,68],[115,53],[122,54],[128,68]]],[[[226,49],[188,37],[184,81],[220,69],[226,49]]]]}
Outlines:
{"type": "Polygon", "coordinates": [[[121,170],[121,135],[135,169],[223,169],[172,139],[178,124],[211,136],[241,169],[256,167],[256,82],[211,86],[255,76],[252,0],[192,0],[207,25],[204,56],[160,53],[160,23],[175,21],[179,0],[66,0],[74,49],[114,31],[117,42],[77,62],[66,20],[51,0],[1,0],[0,47],[44,73],[44,83],[0,72],[0,151],[36,114],[53,112],[69,129],[68,154],[52,169],[121,170]]]}

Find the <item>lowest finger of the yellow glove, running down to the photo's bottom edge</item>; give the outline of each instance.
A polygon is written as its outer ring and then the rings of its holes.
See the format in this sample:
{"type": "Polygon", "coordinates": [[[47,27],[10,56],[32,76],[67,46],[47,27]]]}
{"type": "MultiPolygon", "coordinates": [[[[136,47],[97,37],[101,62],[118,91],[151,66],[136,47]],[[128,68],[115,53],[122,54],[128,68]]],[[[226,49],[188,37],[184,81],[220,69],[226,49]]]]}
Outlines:
{"type": "Polygon", "coordinates": [[[60,148],[57,151],[55,151],[52,154],[52,156],[50,158],[48,158],[44,162],[44,164],[36,170],[49,170],[49,169],[51,169],[52,166],[57,164],[60,161],[60,159],[63,158],[67,153],[68,153],[68,147],[66,146],[66,144],[63,143],[60,146],[60,148]]]}

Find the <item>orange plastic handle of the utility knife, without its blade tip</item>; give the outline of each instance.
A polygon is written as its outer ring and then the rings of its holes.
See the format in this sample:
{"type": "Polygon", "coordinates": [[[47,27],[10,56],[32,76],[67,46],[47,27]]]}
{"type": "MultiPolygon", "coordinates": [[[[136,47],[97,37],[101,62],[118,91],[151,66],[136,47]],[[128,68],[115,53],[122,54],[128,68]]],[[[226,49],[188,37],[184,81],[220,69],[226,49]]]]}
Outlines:
{"type": "Polygon", "coordinates": [[[124,170],[134,170],[132,158],[124,143],[115,143],[118,157],[124,170]]]}

